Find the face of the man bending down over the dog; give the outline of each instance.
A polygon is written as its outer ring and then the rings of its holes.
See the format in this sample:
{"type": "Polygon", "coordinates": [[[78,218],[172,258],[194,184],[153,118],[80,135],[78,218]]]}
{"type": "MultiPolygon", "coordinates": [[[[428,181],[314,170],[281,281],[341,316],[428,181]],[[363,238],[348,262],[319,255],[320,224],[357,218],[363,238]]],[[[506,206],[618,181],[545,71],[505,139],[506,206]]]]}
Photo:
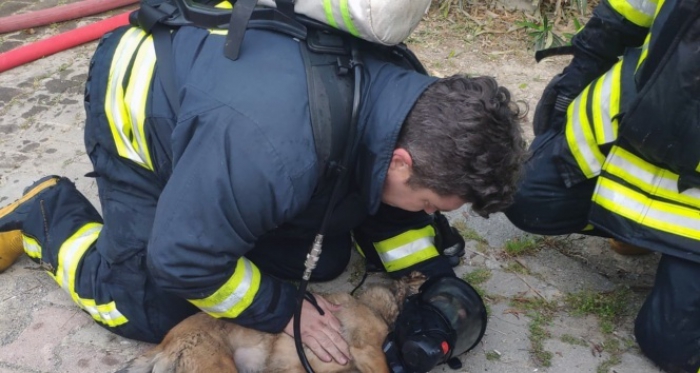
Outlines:
{"type": "Polygon", "coordinates": [[[405,149],[398,148],[389,164],[384,181],[382,202],[406,211],[452,211],[464,205],[465,201],[457,196],[444,197],[427,188],[414,188],[408,185],[411,177],[411,156],[405,149]]]}

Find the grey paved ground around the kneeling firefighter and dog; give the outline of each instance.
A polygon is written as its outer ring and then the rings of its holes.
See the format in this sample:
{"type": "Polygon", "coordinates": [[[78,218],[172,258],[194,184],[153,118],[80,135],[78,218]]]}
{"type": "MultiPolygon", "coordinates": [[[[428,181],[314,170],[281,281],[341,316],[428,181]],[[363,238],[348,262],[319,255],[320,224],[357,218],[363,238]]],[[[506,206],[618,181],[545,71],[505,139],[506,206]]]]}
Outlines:
{"type": "MultiPolygon", "coordinates": [[[[0,16],[59,4],[0,0],[0,16]]],[[[0,35],[0,52],[101,18],[0,35]]],[[[91,165],[82,135],[82,91],[95,45],[0,73],[0,205],[18,198],[35,179],[59,174],[74,180],[98,206],[93,181],[83,177],[91,165]]],[[[419,56],[441,53],[439,47],[430,48],[418,46],[419,56]]],[[[498,75],[497,62],[485,58],[482,63],[498,75]]],[[[517,63],[510,61],[510,68],[531,72],[521,77],[531,80],[517,94],[534,107],[542,76],[558,67],[535,71],[517,63]]],[[[462,357],[460,372],[658,371],[640,354],[632,333],[635,307],[653,280],[656,256],[619,257],[600,239],[528,236],[502,215],[482,219],[464,210],[450,218],[468,237],[467,255],[456,271],[483,291],[490,311],[483,342],[462,357]],[[525,254],[516,253],[518,245],[528,248],[525,254]],[[605,302],[620,291],[628,307],[615,309],[612,316],[576,302],[589,295],[605,302]]],[[[353,264],[341,278],[313,289],[350,290],[359,268],[353,264]]],[[[148,347],[97,326],[26,257],[0,274],[0,373],[114,372],[148,347]]],[[[434,371],[452,370],[440,366],[434,371]]]]}

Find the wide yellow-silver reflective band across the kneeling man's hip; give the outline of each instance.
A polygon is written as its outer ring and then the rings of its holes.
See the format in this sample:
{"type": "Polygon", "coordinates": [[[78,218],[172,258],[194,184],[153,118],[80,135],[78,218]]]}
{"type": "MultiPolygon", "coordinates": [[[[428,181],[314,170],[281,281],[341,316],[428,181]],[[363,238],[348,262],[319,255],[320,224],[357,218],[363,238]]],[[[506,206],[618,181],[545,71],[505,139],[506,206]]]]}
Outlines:
{"type": "Polygon", "coordinates": [[[153,170],[153,163],[144,125],[155,62],[153,37],[138,28],[127,30],[112,57],[105,97],[117,152],[148,170],[153,170]]]}

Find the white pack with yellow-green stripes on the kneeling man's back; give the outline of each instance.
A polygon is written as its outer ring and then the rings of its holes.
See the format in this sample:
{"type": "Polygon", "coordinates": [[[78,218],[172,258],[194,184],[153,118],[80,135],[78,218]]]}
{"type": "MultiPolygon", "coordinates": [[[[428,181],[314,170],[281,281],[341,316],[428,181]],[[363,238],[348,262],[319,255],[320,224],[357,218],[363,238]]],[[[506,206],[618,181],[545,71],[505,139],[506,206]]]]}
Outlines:
{"type": "MultiPolygon", "coordinates": [[[[428,11],[431,0],[296,0],[294,12],[323,22],[358,38],[396,45],[428,11]]],[[[275,7],[275,0],[259,0],[275,7]]]]}

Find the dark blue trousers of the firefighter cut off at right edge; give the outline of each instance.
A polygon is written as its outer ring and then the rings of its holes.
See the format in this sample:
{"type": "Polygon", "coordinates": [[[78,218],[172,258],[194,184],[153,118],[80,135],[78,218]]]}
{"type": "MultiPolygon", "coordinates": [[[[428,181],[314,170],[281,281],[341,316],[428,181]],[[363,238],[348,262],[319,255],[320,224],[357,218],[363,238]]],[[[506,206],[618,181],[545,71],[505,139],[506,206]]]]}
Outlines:
{"type": "MultiPolygon", "coordinates": [[[[563,137],[563,132],[550,130],[535,138],[515,203],[505,214],[515,226],[534,234],[610,237],[599,229],[584,230],[596,180],[566,187],[553,161],[563,137]]],[[[637,315],[637,343],[668,372],[700,369],[699,279],[700,263],[662,255],[654,288],[637,315]]]]}

